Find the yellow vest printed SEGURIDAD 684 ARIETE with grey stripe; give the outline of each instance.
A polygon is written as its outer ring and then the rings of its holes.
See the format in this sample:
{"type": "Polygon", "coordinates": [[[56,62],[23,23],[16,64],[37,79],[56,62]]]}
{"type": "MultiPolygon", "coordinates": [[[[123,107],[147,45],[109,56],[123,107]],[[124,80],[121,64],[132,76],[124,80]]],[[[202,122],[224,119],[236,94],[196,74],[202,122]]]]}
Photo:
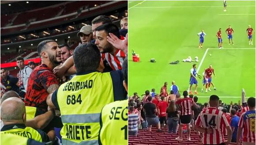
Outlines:
{"type": "Polygon", "coordinates": [[[57,92],[63,127],[63,145],[98,144],[99,116],[114,101],[110,73],[91,72],[74,76],[57,92]]]}

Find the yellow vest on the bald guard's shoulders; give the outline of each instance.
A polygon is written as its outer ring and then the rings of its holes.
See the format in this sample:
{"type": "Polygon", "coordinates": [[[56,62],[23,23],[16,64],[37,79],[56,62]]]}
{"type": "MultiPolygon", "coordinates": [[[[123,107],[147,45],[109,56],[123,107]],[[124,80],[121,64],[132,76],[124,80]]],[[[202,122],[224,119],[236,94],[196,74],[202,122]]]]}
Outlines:
{"type": "Polygon", "coordinates": [[[23,128],[15,128],[15,129],[1,131],[1,134],[5,134],[5,133],[17,134],[17,135],[20,135],[20,136],[23,136],[26,138],[31,138],[36,141],[42,142],[41,135],[38,133],[37,130],[34,130],[31,127],[26,127],[24,129],[23,128]]]}

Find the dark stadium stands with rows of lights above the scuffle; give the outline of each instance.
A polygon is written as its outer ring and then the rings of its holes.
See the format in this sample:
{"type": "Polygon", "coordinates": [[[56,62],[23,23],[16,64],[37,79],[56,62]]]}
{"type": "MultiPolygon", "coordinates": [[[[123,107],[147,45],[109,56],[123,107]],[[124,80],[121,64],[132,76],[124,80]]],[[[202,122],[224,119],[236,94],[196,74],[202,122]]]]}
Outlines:
{"type": "Polygon", "coordinates": [[[120,27],[120,19],[128,15],[127,2],[1,1],[1,67],[8,66],[15,76],[15,58],[22,56],[25,62],[38,58],[37,44],[46,39],[75,49],[76,33],[98,15],[109,16],[120,27]],[[4,65],[10,62],[13,65],[4,65]]]}

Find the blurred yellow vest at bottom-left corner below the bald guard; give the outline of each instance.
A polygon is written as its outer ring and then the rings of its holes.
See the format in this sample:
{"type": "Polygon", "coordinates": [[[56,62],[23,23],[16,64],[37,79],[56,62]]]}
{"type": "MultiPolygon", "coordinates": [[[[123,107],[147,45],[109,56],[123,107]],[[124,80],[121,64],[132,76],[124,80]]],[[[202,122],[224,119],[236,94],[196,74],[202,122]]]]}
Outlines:
{"type": "Polygon", "coordinates": [[[16,134],[1,134],[1,145],[45,145],[45,143],[16,134]]]}

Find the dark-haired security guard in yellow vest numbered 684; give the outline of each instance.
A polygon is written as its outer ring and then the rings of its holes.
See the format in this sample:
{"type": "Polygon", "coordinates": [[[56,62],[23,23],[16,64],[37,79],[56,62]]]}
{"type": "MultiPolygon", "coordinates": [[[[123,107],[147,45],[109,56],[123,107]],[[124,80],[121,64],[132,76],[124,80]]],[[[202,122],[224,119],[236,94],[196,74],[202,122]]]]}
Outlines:
{"type": "Polygon", "coordinates": [[[122,72],[102,73],[101,54],[92,43],[76,47],[73,58],[76,76],[49,94],[46,102],[60,109],[63,145],[97,145],[103,106],[126,98],[122,72]]]}

